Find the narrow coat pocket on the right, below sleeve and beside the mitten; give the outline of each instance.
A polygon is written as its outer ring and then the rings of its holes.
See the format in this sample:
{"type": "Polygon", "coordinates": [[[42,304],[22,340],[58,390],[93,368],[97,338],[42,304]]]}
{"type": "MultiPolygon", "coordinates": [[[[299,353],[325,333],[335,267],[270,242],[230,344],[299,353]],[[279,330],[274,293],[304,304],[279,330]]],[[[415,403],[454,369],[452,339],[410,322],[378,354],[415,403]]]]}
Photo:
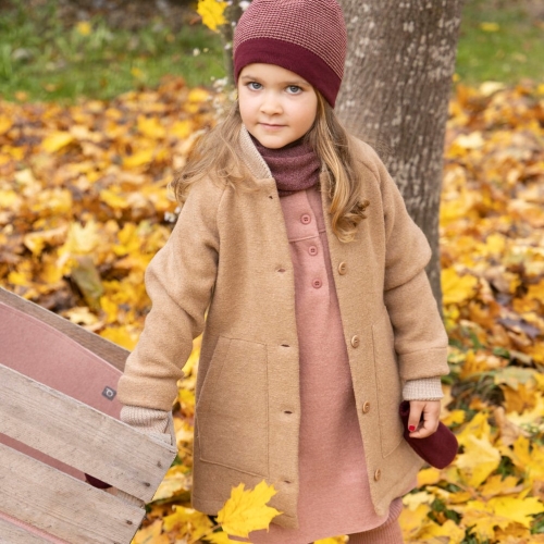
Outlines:
{"type": "Polygon", "coordinates": [[[372,325],[372,344],[374,347],[382,456],[387,457],[403,441],[404,429],[398,416],[398,406],[403,400],[403,388],[398,373],[393,326],[385,308],[380,319],[372,325]]]}

